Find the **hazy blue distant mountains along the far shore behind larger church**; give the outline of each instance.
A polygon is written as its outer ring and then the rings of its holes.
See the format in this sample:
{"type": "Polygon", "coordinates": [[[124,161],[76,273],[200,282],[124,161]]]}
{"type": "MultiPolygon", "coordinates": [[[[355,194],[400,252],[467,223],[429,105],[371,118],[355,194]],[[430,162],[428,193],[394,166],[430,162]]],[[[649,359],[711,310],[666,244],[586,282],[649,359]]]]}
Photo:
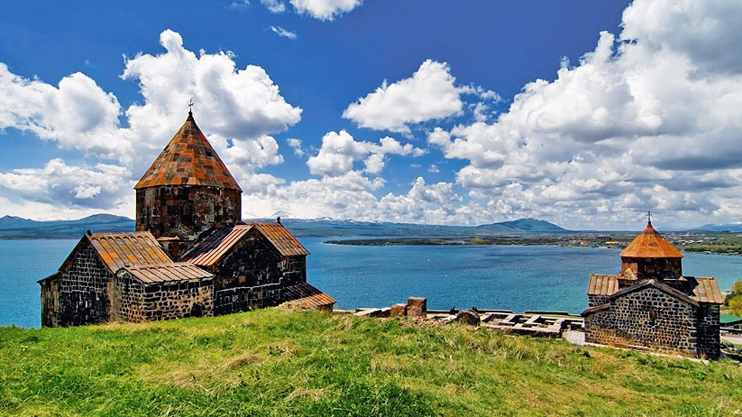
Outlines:
{"type": "MultiPolygon", "coordinates": [[[[249,221],[274,222],[276,220],[253,219],[249,221]]],[[[313,237],[441,237],[568,232],[555,224],[538,219],[520,219],[476,227],[290,218],[283,219],[282,223],[297,236],[313,237]]],[[[134,230],[134,220],[111,214],[96,214],[79,220],[53,221],[36,221],[13,216],[0,218],[0,239],[77,239],[82,237],[87,230],[131,232],[134,230]]]]}

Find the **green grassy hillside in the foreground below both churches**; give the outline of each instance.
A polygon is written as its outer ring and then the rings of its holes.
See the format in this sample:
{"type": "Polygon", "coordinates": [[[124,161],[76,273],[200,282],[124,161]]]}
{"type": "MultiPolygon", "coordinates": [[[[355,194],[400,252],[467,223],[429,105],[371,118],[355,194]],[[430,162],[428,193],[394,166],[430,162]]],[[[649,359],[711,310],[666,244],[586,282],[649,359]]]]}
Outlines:
{"type": "Polygon", "coordinates": [[[464,326],[266,309],[0,328],[0,415],[723,416],[742,371],[464,326]]]}

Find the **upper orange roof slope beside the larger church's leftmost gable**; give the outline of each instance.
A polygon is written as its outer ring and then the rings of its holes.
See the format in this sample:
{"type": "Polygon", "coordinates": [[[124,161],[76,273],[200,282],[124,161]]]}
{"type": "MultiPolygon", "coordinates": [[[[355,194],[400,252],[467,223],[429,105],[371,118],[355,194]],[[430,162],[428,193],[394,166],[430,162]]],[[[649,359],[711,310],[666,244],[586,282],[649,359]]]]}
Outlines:
{"type": "Polygon", "coordinates": [[[93,233],[85,237],[112,272],[125,266],[173,263],[150,232],[93,233]]]}

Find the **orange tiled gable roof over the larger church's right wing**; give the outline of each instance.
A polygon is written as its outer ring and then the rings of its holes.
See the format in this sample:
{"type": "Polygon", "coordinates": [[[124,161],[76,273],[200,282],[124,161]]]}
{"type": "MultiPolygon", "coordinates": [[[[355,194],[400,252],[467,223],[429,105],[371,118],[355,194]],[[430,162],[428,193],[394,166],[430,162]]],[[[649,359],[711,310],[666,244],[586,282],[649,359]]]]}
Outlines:
{"type": "Polygon", "coordinates": [[[278,250],[281,256],[306,256],[309,251],[285,227],[278,223],[252,223],[216,229],[197,243],[183,260],[199,266],[219,262],[250,230],[256,229],[278,250]]]}

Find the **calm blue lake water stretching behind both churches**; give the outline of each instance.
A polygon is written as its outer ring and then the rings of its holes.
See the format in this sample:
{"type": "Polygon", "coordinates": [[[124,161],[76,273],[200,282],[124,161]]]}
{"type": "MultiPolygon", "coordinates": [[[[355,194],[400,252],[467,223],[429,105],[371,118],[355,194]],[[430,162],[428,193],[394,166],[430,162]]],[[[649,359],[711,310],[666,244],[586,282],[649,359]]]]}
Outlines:
{"type": "MultiPolygon", "coordinates": [[[[513,311],[587,307],[590,273],[620,268],[619,250],[550,246],[335,246],[302,238],[309,282],[337,308],[381,307],[408,296],[428,308],[513,311]]],[[[54,273],[77,240],[0,241],[0,326],[38,327],[37,280],[54,273]]],[[[742,257],[686,254],[686,275],[716,276],[722,290],[742,279],[742,257]]]]}

